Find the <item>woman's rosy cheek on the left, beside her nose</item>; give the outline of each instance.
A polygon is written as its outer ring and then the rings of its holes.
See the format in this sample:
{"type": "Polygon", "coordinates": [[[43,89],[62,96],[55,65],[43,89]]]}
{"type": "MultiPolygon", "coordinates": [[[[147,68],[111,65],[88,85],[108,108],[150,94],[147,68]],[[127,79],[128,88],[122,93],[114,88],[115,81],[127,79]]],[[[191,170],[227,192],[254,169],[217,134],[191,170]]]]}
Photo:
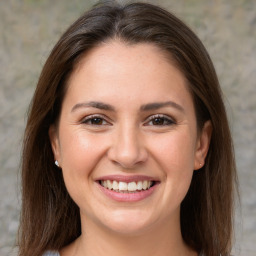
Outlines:
{"type": "MultiPolygon", "coordinates": [[[[101,136],[84,130],[63,130],[61,140],[61,163],[66,187],[71,196],[84,189],[92,181],[92,172],[104,154],[101,136]]],[[[60,134],[61,136],[61,134],[60,134]]]]}

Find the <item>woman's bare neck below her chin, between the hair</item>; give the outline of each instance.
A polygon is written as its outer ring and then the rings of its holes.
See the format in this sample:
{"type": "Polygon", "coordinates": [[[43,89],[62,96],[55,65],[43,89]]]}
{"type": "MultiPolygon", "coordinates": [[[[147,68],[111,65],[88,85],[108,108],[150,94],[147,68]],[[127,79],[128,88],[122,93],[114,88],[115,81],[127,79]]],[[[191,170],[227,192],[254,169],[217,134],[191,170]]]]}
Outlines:
{"type": "MultiPolygon", "coordinates": [[[[179,224],[155,225],[136,234],[117,233],[86,219],[82,220],[82,235],[71,244],[69,253],[76,256],[196,256],[183,242],[179,224]]],[[[179,223],[179,222],[178,222],[179,223]]],[[[65,250],[63,251],[65,252],[65,250]]]]}

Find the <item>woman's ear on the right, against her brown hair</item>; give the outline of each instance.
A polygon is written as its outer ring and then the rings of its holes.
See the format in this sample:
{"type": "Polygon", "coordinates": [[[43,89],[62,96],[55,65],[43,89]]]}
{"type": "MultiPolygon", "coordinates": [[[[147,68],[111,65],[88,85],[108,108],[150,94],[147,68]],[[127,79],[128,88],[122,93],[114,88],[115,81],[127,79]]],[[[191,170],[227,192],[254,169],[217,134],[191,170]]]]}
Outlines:
{"type": "Polygon", "coordinates": [[[205,158],[211,142],[212,123],[210,120],[205,122],[201,133],[197,138],[194,170],[198,170],[204,166],[205,158]]]}

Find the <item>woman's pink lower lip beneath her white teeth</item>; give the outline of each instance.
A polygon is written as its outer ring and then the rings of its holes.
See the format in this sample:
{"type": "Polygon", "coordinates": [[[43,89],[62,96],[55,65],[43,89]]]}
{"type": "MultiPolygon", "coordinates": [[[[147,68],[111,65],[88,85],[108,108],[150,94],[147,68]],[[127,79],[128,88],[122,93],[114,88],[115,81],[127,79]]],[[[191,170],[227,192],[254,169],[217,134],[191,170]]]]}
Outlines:
{"type": "Polygon", "coordinates": [[[142,190],[140,192],[135,193],[119,193],[114,190],[110,190],[107,188],[104,188],[98,183],[98,186],[100,190],[109,198],[118,201],[118,202],[138,202],[141,200],[144,200],[152,195],[152,193],[156,190],[158,187],[158,184],[155,184],[153,187],[142,190]]]}

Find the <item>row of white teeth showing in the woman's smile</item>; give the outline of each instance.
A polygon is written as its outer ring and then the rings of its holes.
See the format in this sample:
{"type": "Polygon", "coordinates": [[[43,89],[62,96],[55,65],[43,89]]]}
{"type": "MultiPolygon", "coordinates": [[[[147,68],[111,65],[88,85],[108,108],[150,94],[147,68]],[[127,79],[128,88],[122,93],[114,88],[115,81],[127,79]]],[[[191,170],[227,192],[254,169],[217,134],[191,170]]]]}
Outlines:
{"type": "Polygon", "coordinates": [[[100,184],[107,189],[110,190],[115,190],[116,192],[136,192],[136,191],[141,191],[143,190],[147,190],[149,189],[153,182],[152,181],[148,181],[148,180],[144,180],[144,181],[132,181],[132,182],[123,182],[123,181],[111,181],[111,180],[103,180],[100,182],[100,184]]]}

